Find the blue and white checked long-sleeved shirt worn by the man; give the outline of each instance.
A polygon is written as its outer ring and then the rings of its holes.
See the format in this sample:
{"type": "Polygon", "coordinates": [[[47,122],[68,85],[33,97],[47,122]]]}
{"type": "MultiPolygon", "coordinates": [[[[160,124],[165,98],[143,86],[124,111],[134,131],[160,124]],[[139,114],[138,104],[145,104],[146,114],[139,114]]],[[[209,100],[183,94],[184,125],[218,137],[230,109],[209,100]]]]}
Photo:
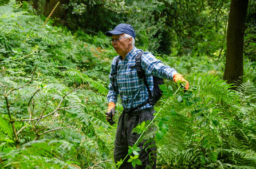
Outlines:
{"type": "MultiPolygon", "coordinates": [[[[134,107],[147,101],[149,94],[147,87],[143,83],[143,79],[139,79],[137,76],[135,67],[135,57],[140,51],[136,47],[127,54],[124,61],[122,57],[119,59],[117,74],[109,75],[109,79],[112,82],[112,78],[115,78],[115,87],[118,92],[115,92],[112,84],[109,84],[109,92],[107,95],[108,102],[117,102],[118,95],[120,95],[121,102],[125,110],[131,110],[134,107]]],[[[117,56],[119,57],[119,56],[117,56]]],[[[111,63],[111,73],[116,72],[116,59],[115,57],[111,63]]],[[[141,55],[141,67],[143,68],[148,86],[152,92],[153,90],[153,76],[159,78],[166,78],[173,80],[174,74],[177,73],[176,70],[172,69],[170,66],[165,66],[161,61],[157,60],[151,53],[145,52],[141,55]]],[[[149,104],[141,107],[141,110],[145,108],[152,107],[149,104]]]]}

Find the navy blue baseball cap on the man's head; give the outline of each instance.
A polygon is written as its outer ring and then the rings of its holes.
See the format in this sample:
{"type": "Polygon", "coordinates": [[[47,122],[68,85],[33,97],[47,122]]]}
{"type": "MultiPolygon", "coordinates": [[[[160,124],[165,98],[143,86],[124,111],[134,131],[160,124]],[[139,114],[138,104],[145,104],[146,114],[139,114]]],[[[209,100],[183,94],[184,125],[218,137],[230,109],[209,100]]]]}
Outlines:
{"type": "Polygon", "coordinates": [[[117,25],[115,27],[114,30],[107,31],[106,35],[107,35],[107,37],[111,37],[113,34],[119,35],[119,34],[124,34],[124,33],[130,35],[133,39],[135,39],[135,37],[136,37],[132,26],[129,24],[125,24],[125,23],[120,23],[119,25],[117,25]]]}

